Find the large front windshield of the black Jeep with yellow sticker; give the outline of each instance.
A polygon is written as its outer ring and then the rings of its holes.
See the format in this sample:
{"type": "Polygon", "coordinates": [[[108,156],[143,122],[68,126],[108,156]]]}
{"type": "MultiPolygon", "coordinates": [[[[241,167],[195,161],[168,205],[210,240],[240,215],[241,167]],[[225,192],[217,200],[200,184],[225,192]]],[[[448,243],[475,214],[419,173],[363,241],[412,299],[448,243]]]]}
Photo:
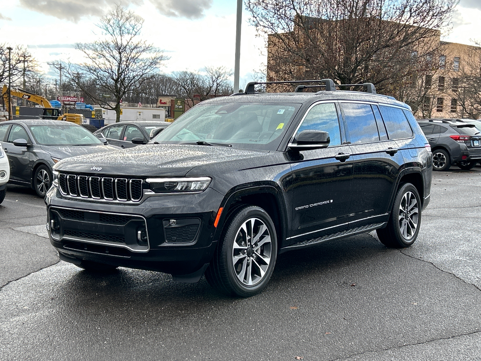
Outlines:
{"type": "Polygon", "coordinates": [[[232,145],[276,150],[301,104],[200,104],[177,118],[150,143],[232,145]]]}

